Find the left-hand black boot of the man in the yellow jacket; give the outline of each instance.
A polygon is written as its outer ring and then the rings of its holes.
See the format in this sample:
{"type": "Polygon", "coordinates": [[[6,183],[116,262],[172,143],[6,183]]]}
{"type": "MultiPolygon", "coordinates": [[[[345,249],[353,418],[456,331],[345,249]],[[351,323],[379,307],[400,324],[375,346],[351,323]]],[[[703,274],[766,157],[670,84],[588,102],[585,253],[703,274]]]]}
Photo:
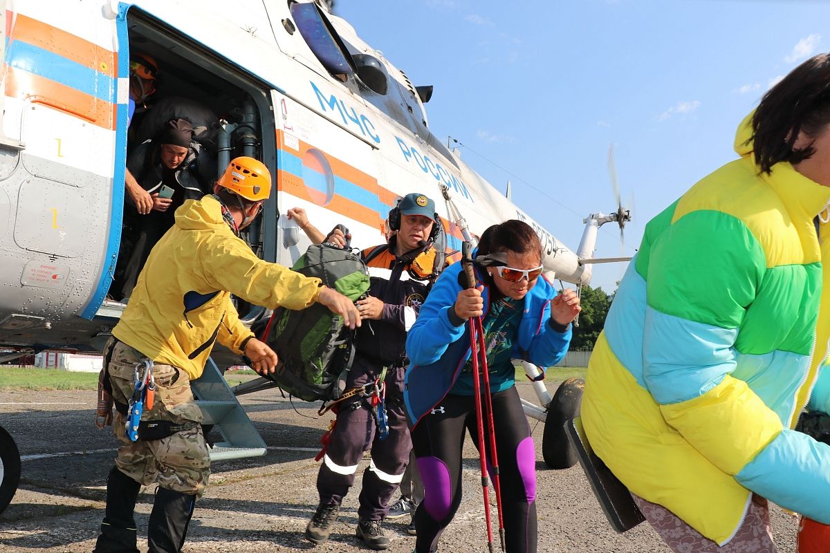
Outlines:
{"type": "Polygon", "coordinates": [[[106,479],[106,510],[94,553],[139,553],[135,540],[135,502],[141,484],[122,473],[110,470],[106,479]]]}

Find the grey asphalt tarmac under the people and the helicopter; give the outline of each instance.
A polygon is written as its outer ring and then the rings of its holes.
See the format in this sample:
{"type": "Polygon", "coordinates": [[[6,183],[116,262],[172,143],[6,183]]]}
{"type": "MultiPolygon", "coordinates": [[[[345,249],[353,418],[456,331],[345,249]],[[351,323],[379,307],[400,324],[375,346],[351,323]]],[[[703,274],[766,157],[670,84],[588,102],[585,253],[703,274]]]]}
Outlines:
{"type": "MultiPolygon", "coordinates": [[[[533,399],[530,386],[518,386],[522,396],[533,399]]],[[[549,389],[553,392],[554,386],[549,389]]],[[[368,459],[358,469],[356,489],[346,497],[330,540],[313,546],[302,535],[317,505],[319,465],[314,456],[329,417],[318,417],[316,404],[291,405],[279,390],[241,400],[268,452],[259,458],[213,463],[210,486],[196,505],[183,552],[368,551],[354,536],[360,475],[368,459]]],[[[0,425],[17,441],[23,458],[20,488],[0,515],[0,552],[92,551],[104,517],[105,479],[117,447],[110,429],[95,428],[94,413],[94,391],[0,390],[0,425]]],[[[562,471],[546,468],[543,424],[530,424],[537,451],[539,551],[669,551],[647,523],[625,534],[613,531],[579,465],[562,471]]],[[[465,458],[464,497],[442,536],[442,552],[487,551],[477,454],[470,439],[465,458]]],[[[146,551],[153,492],[152,487],[142,488],[136,508],[140,551],[146,551]]],[[[408,517],[384,522],[392,539],[388,551],[413,551],[408,523],[408,517]]],[[[794,551],[793,517],[773,507],[772,523],[779,552],[794,551]]]]}

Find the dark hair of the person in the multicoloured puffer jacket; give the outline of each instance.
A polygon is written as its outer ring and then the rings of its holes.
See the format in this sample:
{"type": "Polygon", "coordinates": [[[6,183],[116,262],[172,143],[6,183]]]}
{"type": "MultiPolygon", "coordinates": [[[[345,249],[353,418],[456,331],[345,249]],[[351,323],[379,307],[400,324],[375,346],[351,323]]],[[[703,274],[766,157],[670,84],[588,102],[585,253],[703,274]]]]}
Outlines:
{"type": "Polygon", "coordinates": [[[755,164],[769,173],[775,163],[801,162],[813,144],[794,148],[798,133],[816,137],[830,124],[830,54],[813,56],[789,72],[761,99],[752,118],[755,164]]]}

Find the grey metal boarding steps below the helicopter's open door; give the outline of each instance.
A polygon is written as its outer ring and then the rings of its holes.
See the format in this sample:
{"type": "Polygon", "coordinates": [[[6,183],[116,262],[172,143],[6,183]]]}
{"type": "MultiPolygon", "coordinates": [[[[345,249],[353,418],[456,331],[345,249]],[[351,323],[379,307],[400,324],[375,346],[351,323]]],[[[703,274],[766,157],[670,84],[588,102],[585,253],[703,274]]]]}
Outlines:
{"type": "MultiPolygon", "coordinates": [[[[106,299],[95,313],[95,317],[118,319],[124,313],[125,303],[106,299]]],[[[115,325],[114,325],[115,326],[115,325]]],[[[99,350],[109,339],[109,332],[102,332],[93,343],[99,350]]],[[[261,457],[266,454],[265,441],[254,427],[242,405],[227,386],[222,371],[212,358],[207,359],[202,376],[190,382],[190,389],[196,405],[202,410],[202,424],[211,424],[222,434],[222,442],[216,442],[209,449],[211,461],[261,457]]]]}

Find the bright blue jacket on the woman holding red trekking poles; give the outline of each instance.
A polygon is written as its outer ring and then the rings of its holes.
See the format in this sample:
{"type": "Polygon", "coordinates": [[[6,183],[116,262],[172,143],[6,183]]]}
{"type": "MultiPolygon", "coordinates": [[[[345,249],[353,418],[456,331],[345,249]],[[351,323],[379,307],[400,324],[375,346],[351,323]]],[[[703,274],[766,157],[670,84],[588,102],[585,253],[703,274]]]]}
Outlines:
{"type": "MultiPolygon", "coordinates": [[[[412,428],[447,395],[470,358],[469,326],[457,327],[449,317],[461,291],[458,282],[461,270],[461,263],[454,263],[438,277],[408,332],[410,365],[404,380],[403,399],[412,428]]],[[[525,309],[514,341],[514,358],[546,367],[561,361],[568,351],[570,326],[560,332],[550,321],[549,303],[556,294],[553,285],[540,277],[525,296],[525,309]]],[[[490,308],[488,287],[485,286],[481,295],[486,315],[490,308]]]]}

